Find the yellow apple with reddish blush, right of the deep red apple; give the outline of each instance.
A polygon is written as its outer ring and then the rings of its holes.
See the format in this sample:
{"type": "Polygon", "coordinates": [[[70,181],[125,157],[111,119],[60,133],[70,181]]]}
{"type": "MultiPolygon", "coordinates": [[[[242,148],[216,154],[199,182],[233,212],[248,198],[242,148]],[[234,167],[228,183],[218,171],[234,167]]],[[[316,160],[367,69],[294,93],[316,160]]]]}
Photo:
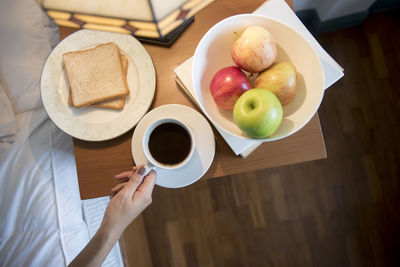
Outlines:
{"type": "Polygon", "coordinates": [[[271,91],[286,106],[296,95],[296,68],[289,61],[275,63],[258,74],[254,86],[271,91]]]}

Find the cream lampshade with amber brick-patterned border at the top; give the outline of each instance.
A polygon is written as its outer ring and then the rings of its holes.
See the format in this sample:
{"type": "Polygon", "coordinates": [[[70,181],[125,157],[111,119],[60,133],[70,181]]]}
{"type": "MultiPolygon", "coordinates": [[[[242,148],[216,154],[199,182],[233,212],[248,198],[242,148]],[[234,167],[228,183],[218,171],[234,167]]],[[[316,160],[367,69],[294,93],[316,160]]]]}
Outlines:
{"type": "Polygon", "coordinates": [[[163,40],[214,0],[40,0],[60,26],[163,40]]]}

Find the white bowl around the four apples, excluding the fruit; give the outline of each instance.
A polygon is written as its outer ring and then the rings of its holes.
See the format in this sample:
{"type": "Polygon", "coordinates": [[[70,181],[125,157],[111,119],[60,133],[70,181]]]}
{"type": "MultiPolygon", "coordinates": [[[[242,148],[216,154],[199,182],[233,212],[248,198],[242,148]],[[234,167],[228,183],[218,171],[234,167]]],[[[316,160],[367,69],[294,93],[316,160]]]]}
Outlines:
{"type": "Polygon", "coordinates": [[[289,60],[297,70],[296,96],[283,107],[283,120],[270,137],[273,141],[300,130],[314,116],[324,96],[324,74],[314,49],[294,29],[277,20],[252,14],[236,15],[214,25],[201,39],[193,58],[192,82],[196,99],[207,117],[226,132],[243,139],[248,137],[233,121],[232,111],[217,107],[210,93],[214,74],[223,67],[234,66],[231,47],[241,32],[251,25],[265,27],[274,37],[278,56],[276,62],[289,60]]]}

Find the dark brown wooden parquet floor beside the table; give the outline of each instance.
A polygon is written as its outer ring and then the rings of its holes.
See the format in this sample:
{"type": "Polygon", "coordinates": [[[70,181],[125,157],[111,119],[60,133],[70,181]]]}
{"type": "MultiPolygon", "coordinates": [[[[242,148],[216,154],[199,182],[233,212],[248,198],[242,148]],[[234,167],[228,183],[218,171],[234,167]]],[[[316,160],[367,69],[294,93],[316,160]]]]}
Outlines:
{"type": "Polygon", "coordinates": [[[130,266],[400,266],[400,12],[317,39],[345,69],[319,109],[328,158],[156,188],[130,266]]]}

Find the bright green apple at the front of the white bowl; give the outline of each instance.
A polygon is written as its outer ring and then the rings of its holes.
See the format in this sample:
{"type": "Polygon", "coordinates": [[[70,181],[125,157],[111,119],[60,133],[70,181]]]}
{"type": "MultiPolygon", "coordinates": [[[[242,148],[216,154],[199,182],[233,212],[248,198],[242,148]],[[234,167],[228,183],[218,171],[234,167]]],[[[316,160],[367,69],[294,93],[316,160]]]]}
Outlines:
{"type": "Polygon", "coordinates": [[[282,116],[279,99],[272,92],[262,88],[246,91],[233,108],[236,125],[251,138],[272,135],[281,124],[282,116]]]}

